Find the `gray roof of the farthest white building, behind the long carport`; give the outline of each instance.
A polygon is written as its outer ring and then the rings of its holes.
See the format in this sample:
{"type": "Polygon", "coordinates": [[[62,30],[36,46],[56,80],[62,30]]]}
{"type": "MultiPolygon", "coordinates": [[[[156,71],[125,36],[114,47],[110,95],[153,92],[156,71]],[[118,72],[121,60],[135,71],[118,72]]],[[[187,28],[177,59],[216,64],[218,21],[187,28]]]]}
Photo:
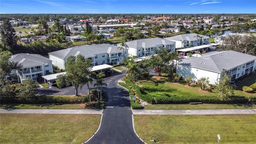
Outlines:
{"type": "MultiPolygon", "coordinates": [[[[203,38],[210,38],[209,36],[204,36],[204,35],[199,35],[199,34],[183,34],[183,35],[178,35],[178,36],[171,36],[171,37],[166,37],[165,39],[168,40],[174,40],[174,41],[196,41],[196,36],[201,36],[203,38]]],[[[200,37],[198,37],[199,39],[200,37]]]]}

